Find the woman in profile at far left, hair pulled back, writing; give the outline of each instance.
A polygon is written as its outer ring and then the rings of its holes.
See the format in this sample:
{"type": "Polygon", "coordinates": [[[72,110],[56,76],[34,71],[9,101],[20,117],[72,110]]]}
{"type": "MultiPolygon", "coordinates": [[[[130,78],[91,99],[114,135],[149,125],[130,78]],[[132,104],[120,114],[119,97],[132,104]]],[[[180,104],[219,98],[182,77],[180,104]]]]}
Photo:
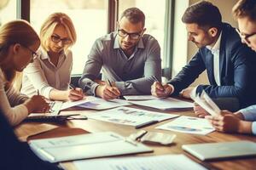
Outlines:
{"type": "Polygon", "coordinates": [[[16,72],[23,71],[33,61],[39,45],[37,33],[24,20],[15,20],[0,28],[0,110],[13,126],[31,112],[49,109],[42,96],[33,95],[29,99],[13,88],[16,72]]]}

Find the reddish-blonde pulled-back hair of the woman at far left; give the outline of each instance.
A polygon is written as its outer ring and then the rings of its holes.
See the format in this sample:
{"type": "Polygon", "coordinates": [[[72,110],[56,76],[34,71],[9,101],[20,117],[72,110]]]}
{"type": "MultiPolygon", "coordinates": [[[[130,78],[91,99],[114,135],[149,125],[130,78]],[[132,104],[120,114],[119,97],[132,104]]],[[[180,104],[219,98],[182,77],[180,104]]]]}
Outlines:
{"type": "MultiPolygon", "coordinates": [[[[0,65],[8,56],[9,46],[20,43],[22,46],[29,47],[35,42],[40,42],[38,34],[26,20],[13,20],[0,28],[0,65]]],[[[12,84],[16,78],[16,71],[3,71],[6,80],[12,84]]]]}

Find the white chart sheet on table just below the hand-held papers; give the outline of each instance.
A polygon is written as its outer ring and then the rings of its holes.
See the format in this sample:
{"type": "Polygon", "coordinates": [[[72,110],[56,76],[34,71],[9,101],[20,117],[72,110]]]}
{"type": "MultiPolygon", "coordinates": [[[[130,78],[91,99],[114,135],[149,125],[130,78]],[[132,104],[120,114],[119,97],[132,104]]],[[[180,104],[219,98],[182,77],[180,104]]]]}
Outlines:
{"type": "Polygon", "coordinates": [[[215,130],[207,119],[192,116],[180,116],[172,122],[167,122],[155,128],[179,133],[195,133],[202,135],[212,133],[215,130]]]}

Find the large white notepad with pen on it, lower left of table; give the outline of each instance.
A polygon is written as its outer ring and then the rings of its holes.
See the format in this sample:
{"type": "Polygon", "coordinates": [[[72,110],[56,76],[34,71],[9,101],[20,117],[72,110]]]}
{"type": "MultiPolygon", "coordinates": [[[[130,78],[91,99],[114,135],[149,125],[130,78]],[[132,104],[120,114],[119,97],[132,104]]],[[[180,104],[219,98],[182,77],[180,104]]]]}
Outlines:
{"type": "Polygon", "coordinates": [[[153,151],[144,144],[125,139],[118,133],[80,134],[29,141],[32,150],[44,161],[59,162],[103,156],[119,156],[153,151]]]}

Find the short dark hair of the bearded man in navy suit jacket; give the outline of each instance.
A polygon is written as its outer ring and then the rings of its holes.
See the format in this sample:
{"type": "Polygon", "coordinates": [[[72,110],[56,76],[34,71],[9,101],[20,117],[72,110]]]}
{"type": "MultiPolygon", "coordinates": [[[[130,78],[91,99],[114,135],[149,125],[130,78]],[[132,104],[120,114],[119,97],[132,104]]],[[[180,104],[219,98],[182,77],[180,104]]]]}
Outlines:
{"type": "Polygon", "coordinates": [[[183,23],[195,23],[200,27],[216,27],[218,30],[222,26],[222,17],[216,6],[207,1],[192,4],[183,14],[183,23]]]}

